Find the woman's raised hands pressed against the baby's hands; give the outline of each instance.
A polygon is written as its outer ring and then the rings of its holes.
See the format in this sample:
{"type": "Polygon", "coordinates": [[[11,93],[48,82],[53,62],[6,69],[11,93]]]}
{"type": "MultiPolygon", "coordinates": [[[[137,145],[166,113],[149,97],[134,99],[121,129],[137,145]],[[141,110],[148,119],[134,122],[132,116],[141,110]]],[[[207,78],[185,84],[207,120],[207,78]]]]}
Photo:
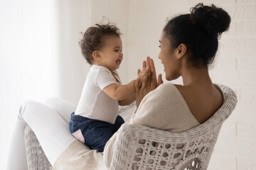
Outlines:
{"type": "Polygon", "coordinates": [[[143,61],[142,70],[138,69],[138,77],[135,81],[135,98],[137,108],[142,99],[150,91],[156,89],[157,86],[163,84],[161,74],[156,79],[156,69],[154,67],[154,61],[150,57],[146,57],[146,61],[143,61]]]}

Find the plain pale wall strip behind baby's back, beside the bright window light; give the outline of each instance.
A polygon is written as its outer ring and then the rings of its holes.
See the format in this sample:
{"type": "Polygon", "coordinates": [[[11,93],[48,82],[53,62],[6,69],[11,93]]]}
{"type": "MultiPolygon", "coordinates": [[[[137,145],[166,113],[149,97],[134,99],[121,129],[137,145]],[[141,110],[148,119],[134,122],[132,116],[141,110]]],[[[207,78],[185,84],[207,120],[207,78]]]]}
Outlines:
{"type": "Polygon", "coordinates": [[[91,25],[90,0],[54,1],[53,34],[55,96],[78,104],[82,86],[90,66],[80,52],[78,42],[82,30],[91,25]]]}

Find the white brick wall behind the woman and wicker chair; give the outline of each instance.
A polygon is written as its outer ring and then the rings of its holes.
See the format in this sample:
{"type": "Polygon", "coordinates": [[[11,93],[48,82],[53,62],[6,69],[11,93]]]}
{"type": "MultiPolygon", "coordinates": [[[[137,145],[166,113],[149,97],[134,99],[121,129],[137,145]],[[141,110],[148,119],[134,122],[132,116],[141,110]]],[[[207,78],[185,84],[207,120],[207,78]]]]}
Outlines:
{"type": "MultiPolygon", "coordinates": [[[[156,72],[164,75],[157,55],[166,18],[188,13],[199,2],[228,11],[230,30],[222,35],[210,76],[235,90],[238,106],[223,124],[208,169],[256,169],[256,0],[110,0],[100,6],[101,2],[92,1],[92,23],[109,16],[124,30],[124,82],[137,77],[146,56],[154,58],[156,72]],[[114,8],[122,10],[114,12],[114,8]]],[[[181,79],[174,83],[180,84],[181,79]]]]}

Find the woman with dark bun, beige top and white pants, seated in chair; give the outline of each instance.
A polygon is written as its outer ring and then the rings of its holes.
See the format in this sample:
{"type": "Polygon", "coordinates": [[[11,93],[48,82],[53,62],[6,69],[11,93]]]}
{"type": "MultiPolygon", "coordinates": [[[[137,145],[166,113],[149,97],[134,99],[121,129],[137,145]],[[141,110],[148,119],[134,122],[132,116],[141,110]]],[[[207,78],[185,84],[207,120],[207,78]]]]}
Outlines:
{"type": "MultiPolygon", "coordinates": [[[[191,8],[190,14],[171,19],[161,33],[159,59],[164,65],[166,80],[182,77],[183,86],[162,84],[161,76],[157,81],[154,62],[147,57],[143,67],[148,74],[135,84],[137,111],[131,123],[178,132],[208,120],[223,103],[221,90],[210,80],[208,64],[213,62],[218,50],[219,35],[228,30],[229,25],[228,13],[213,5],[198,4],[191,8]]],[[[80,157],[78,153],[69,152],[78,144],[68,132],[70,113],[75,107],[58,100],[49,103],[51,108],[35,102],[21,107],[11,145],[13,151],[18,148],[19,152],[11,152],[8,168],[26,169],[23,128],[28,123],[54,169],[75,169],[76,165],[78,169],[107,169],[117,133],[107,142],[103,155],[82,147],[85,152],[80,157]],[[76,159],[78,157],[82,159],[76,159]]]]}

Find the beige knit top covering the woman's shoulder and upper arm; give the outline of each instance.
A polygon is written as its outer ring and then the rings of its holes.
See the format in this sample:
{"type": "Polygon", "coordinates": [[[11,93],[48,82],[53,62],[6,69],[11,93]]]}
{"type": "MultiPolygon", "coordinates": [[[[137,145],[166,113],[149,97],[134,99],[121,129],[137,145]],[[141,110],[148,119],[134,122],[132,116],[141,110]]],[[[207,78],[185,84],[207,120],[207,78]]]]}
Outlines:
{"type": "Polygon", "coordinates": [[[146,95],[132,115],[131,123],[149,128],[180,132],[199,125],[176,86],[161,84],[146,95]]]}

